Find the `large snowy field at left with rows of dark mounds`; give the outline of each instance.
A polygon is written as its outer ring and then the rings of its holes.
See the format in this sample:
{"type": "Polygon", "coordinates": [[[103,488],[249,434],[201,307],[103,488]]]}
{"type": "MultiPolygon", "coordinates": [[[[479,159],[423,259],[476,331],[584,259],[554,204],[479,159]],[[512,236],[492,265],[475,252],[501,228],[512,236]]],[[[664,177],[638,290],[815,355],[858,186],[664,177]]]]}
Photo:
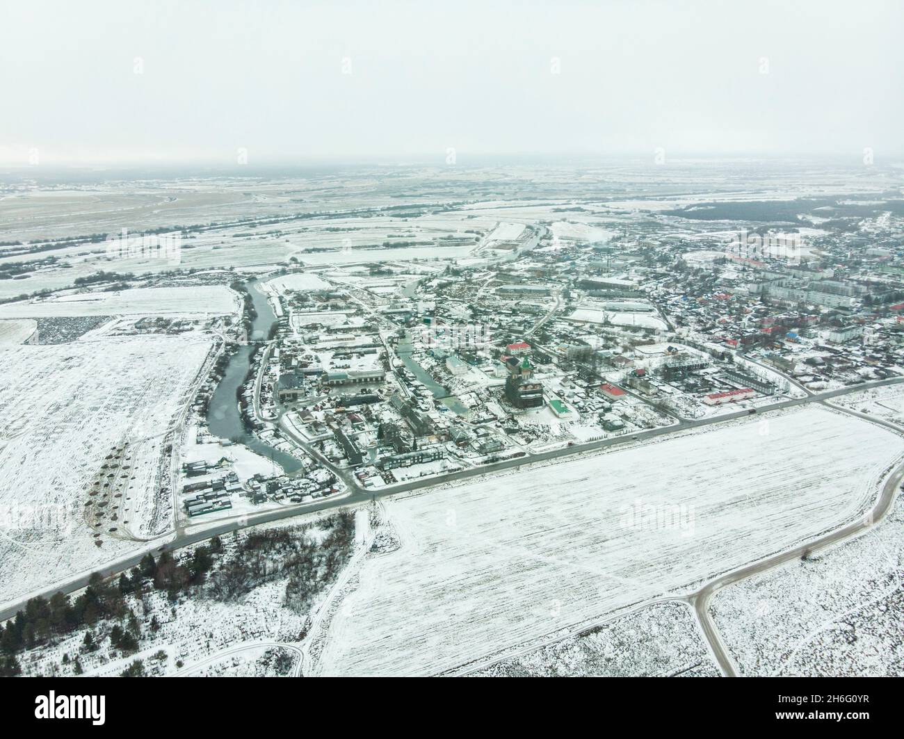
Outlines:
{"type": "Polygon", "coordinates": [[[0,602],[165,533],[168,432],[210,347],[162,336],[0,347],[0,602]]]}

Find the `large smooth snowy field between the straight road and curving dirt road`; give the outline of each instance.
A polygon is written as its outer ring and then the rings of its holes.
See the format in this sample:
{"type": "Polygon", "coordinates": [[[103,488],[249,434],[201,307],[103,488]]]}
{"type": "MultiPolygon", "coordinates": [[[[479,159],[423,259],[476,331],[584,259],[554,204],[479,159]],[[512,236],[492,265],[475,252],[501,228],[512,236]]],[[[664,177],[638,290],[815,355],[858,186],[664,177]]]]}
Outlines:
{"type": "Polygon", "coordinates": [[[434,674],[575,628],[855,518],[899,436],[805,408],[387,504],[322,674],[434,674]]]}

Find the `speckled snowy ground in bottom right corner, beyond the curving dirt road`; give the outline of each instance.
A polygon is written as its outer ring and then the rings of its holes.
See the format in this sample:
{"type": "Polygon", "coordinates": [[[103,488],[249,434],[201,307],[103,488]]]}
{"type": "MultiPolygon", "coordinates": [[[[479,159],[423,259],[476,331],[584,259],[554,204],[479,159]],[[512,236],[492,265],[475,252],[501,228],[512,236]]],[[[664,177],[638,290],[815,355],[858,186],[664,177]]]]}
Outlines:
{"type": "Polygon", "coordinates": [[[860,538],[720,590],[744,675],[904,675],[904,502],[860,538]]]}

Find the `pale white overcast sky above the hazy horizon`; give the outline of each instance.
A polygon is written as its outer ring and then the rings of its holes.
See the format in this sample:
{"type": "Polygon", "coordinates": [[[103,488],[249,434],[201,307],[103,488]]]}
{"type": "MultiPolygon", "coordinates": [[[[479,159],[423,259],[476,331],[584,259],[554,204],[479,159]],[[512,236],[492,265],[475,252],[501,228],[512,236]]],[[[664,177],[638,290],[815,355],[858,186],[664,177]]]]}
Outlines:
{"type": "Polygon", "coordinates": [[[0,163],[904,152],[904,3],[0,0],[0,163]]]}

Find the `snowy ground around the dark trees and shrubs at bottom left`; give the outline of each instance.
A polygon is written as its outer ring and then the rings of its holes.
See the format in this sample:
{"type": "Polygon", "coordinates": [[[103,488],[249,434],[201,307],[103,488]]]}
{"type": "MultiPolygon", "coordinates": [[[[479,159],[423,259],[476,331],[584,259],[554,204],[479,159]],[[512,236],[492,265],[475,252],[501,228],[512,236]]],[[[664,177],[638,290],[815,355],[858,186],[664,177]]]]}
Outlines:
{"type": "MultiPolygon", "coordinates": [[[[371,540],[367,513],[357,518],[363,520],[356,520],[353,541],[343,557],[353,556],[355,552],[363,554],[371,540]]],[[[127,596],[128,610],[137,614],[134,625],[128,627],[137,636],[137,651],[123,653],[112,647],[108,633],[117,621],[108,620],[90,627],[97,650],[83,648],[84,629],[72,631],[55,643],[22,653],[24,673],[71,675],[74,660],[78,659],[85,675],[117,676],[140,659],[146,671],[155,675],[297,674],[307,627],[312,615],[325,603],[334,580],[325,579],[315,568],[315,579],[310,581],[310,603],[302,608],[287,603],[287,585],[290,575],[296,572],[299,553],[306,549],[307,543],[312,547],[322,545],[326,534],[335,531],[329,520],[329,516],[314,514],[292,524],[274,522],[224,536],[223,554],[214,557],[216,564],[202,587],[171,598],[164,590],[152,587],[151,578],[145,581],[143,594],[127,596]],[[252,536],[280,531],[289,534],[296,547],[267,548],[266,554],[259,548],[238,551],[237,547],[247,544],[252,536]],[[230,575],[225,579],[232,581],[239,577],[241,585],[235,593],[218,595],[216,588],[212,590],[211,580],[218,566],[230,557],[233,563],[240,558],[246,566],[238,570],[230,566],[230,575]],[[266,557],[267,566],[250,562],[256,557],[266,557]],[[238,571],[240,575],[236,575],[238,571]],[[286,652],[281,666],[272,659],[275,655],[261,659],[274,650],[286,652]],[[69,659],[63,659],[63,655],[69,659]]],[[[199,546],[182,550],[179,557],[191,557],[199,546]]],[[[340,547],[333,550],[336,554],[341,551],[340,547]]],[[[121,620],[119,624],[126,626],[129,621],[121,620]]]]}

